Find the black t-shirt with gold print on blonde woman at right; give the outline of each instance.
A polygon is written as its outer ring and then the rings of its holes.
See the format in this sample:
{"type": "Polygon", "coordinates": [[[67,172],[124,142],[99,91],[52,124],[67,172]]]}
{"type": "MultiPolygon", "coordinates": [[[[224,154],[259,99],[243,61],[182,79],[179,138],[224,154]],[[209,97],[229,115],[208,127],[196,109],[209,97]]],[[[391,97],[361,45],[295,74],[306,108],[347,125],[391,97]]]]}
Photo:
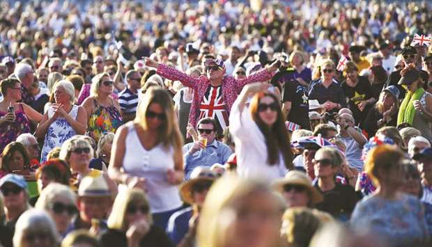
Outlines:
{"type": "Polygon", "coordinates": [[[344,81],[342,83],[342,90],[344,90],[348,102],[348,107],[351,111],[353,111],[355,123],[362,126],[364,118],[366,118],[369,109],[371,109],[371,106],[373,105],[369,104],[364,108],[363,111],[360,111],[357,104],[359,104],[363,100],[367,100],[373,97],[371,83],[369,83],[369,80],[366,77],[359,76],[357,85],[354,88],[348,86],[346,81],[344,81]]]}

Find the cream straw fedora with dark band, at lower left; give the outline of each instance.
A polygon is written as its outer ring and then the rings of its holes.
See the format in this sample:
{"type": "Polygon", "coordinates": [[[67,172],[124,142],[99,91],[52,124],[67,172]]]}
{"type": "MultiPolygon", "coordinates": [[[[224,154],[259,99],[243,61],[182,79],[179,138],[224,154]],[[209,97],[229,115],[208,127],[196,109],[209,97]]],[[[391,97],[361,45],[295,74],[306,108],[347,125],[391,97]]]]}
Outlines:
{"type": "Polygon", "coordinates": [[[78,196],[105,197],[111,196],[111,191],[109,191],[107,181],[102,175],[86,176],[79,183],[78,196]]]}

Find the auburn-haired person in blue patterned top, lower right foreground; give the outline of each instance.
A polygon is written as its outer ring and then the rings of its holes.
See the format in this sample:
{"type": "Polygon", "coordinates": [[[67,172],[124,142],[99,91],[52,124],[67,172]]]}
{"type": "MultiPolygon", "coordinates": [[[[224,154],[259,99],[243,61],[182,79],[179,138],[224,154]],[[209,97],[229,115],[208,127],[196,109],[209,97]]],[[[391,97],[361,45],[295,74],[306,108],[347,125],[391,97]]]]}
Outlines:
{"type": "Polygon", "coordinates": [[[401,193],[403,157],[391,145],[379,145],[367,154],[364,170],[377,185],[376,193],[356,205],[350,221],[357,230],[376,232],[390,246],[415,246],[429,237],[422,202],[401,193]]]}

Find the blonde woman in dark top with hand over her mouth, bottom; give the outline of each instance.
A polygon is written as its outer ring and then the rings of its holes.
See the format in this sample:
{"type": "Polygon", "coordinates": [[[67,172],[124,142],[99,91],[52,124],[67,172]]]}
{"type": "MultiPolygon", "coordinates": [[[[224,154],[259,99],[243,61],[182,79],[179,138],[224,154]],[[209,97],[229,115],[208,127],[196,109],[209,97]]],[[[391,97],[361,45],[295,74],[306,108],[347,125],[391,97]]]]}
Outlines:
{"type": "Polygon", "coordinates": [[[153,224],[150,205],[141,189],[118,193],[108,218],[108,230],[100,236],[102,247],[171,247],[164,230],[153,224]]]}

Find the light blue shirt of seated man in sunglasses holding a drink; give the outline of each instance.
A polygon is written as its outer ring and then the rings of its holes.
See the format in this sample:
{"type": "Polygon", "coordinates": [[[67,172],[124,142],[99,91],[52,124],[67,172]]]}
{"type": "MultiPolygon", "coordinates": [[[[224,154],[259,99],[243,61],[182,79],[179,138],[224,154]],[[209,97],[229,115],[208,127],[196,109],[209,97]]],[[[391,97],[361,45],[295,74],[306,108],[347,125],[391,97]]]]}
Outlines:
{"type": "Polygon", "coordinates": [[[185,180],[189,180],[190,173],[198,166],[213,166],[215,163],[225,164],[229,156],[233,153],[231,148],[220,141],[213,141],[207,148],[189,154],[190,148],[194,143],[187,143],[183,146],[183,157],[185,159],[185,180]]]}

